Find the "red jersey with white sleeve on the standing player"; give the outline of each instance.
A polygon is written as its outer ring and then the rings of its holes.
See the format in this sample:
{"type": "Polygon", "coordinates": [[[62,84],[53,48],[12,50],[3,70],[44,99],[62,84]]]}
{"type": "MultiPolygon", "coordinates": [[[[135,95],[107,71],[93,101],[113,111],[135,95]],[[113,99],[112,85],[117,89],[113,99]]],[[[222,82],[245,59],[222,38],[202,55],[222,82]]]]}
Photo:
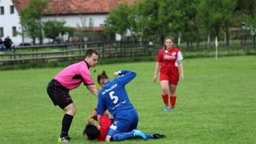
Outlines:
{"type": "Polygon", "coordinates": [[[162,63],[162,68],[178,67],[177,60],[182,60],[182,54],[177,47],[172,47],[171,50],[160,49],[156,58],[157,62],[162,63]]]}

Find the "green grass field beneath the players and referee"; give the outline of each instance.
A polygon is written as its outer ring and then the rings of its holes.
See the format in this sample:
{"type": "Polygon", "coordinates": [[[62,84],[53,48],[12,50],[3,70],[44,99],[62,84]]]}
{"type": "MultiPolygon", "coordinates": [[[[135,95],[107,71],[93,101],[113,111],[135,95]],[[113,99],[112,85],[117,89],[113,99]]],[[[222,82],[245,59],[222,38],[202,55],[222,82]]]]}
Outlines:
{"type": "MultiPolygon", "coordinates": [[[[155,62],[100,65],[92,73],[95,79],[103,69],[111,77],[116,70],[135,71],[126,89],[140,116],[139,129],[167,136],[117,143],[256,143],[256,57],[188,59],[183,64],[185,80],[177,89],[177,109],[167,113],[159,83],[152,82],[155,62]]],[[[63,113],[52,105],[46,85],[61,69],[0,71],[1,143],[57,142],[63,113]]],[[[69,132],[72,143],[95,143],[85,140],[82,131],[96,97],[84,85],[70,93],[77,108],[69,132]]]]}

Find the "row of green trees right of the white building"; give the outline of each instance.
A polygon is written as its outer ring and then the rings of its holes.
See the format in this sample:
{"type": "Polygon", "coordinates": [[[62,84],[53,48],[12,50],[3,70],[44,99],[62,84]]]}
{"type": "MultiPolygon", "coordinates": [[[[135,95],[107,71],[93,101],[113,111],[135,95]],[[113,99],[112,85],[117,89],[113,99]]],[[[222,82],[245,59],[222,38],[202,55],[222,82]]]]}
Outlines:
{"type": "Polygon", "coordinates": [[[109,13],[105,32],[123,38],[158,40],[164,36],[182,37],[191,44],[225,34],[229,44],[229,28],[244,28],[255,37],[255,0],[135,0],[121,4],[109,13]]]}

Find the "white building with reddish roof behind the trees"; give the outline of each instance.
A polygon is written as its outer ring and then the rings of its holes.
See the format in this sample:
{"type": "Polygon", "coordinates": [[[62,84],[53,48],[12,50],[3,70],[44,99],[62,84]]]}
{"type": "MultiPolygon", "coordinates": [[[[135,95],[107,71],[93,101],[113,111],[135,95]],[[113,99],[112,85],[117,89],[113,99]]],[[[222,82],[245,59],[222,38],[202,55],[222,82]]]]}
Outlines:
{"type": "MultiPolygon", "coordinates": [[[[31,43],[28,36],[21,36],[20,11],[28,6],[29,0],[0,0],[0,37],[10,36],[14,45],[31,43]]],[[[72,28],[90,27],[102,30],[104,20],[116,5],[132,4],[132,0],[50,0],[43,21],[65,21],[72,28]]],[[[49,42],[44,39],[44,43],[49,42]]]]}

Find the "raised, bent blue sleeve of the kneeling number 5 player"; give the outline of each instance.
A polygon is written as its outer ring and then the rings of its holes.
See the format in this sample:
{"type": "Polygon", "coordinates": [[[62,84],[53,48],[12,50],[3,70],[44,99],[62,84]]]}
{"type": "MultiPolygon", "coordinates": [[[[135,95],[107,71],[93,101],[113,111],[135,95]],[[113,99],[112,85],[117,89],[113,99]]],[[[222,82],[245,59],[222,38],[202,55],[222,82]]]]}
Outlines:
{"type": "Polygon", "coordinates": [[[132,79],[136,76],[136,73],[129,70],[122,70],[119,71],[119,75],[120,76],[116,77],[117,83],[125,85],[132,81],[132,79]]]}

